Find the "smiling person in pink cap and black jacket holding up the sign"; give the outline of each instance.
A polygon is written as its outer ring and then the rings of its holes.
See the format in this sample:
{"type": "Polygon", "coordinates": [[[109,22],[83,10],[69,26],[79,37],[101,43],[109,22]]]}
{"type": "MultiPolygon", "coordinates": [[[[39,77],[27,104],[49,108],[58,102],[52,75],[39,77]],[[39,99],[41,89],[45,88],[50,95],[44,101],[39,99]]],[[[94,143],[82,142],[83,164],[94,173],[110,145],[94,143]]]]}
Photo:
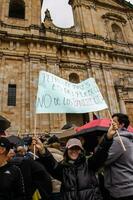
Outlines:
{"type": "Polygon", "coordinates": [[[79,139],[69,139],[64,160],[61,162],[57,162],[48,149],[44,148],[39,140],[35,140],[40,161],[54,178],[61,181],[63,200],[102,200],[95,172],[106,160],[114,134],[108,132],[97,151],[89,158],[85,157],[79,139]]]}

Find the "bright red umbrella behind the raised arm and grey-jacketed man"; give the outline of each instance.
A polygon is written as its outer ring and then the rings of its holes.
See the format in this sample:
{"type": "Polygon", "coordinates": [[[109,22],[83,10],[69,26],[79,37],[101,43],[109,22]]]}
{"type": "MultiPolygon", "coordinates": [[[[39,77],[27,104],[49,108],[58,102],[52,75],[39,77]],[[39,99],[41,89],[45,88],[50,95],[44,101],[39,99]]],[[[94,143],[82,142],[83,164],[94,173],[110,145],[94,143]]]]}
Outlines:
{"type": "MultiPolygon", "coordinates": [[[[76,128],[77,134],[84,134],[84,133],[91,133],[91,132],[107,132],[109,126],[111,124],[111,120],[104,118],[104,119],[95,119],[87,124],[76,128]]],[[[133,132],[133,127],[129,126],[128,131],[133,132]]]]}

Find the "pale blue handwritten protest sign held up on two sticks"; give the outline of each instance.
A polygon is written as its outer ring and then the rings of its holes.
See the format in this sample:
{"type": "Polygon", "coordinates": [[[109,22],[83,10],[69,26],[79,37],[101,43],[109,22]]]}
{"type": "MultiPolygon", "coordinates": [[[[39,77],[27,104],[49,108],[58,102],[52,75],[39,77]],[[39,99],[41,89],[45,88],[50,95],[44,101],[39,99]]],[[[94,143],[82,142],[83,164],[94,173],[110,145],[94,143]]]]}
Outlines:
{"type": "Polygon", "coordinates": [[[93,78],[75,84],[54,74],[40,72],[36,113],[87,113],[106,108],[93,78]]]}

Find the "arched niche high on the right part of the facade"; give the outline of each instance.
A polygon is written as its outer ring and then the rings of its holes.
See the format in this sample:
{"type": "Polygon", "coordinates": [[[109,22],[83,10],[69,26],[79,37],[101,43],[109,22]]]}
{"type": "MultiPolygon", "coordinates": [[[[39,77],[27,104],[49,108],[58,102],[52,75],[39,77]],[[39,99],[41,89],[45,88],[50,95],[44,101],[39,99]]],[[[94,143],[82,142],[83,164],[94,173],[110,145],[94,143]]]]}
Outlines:
{"type": "Polygon", "coordinates": [[[117,24],[112,24],[113,39],[118,42],[123,42],[124,37],[121,28],[117,24]]]}

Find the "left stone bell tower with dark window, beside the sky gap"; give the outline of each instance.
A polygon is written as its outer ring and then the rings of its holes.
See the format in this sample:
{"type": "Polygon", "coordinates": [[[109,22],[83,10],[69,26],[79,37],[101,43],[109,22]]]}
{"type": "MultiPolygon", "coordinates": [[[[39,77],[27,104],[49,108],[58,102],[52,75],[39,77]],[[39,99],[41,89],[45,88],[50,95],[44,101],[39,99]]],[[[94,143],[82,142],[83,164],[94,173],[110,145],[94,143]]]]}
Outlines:
{"type": "Polygon", "coordinates": [[[40,26],[43,0],[1,0],[0,21],[7,25],[40,26]]]}

